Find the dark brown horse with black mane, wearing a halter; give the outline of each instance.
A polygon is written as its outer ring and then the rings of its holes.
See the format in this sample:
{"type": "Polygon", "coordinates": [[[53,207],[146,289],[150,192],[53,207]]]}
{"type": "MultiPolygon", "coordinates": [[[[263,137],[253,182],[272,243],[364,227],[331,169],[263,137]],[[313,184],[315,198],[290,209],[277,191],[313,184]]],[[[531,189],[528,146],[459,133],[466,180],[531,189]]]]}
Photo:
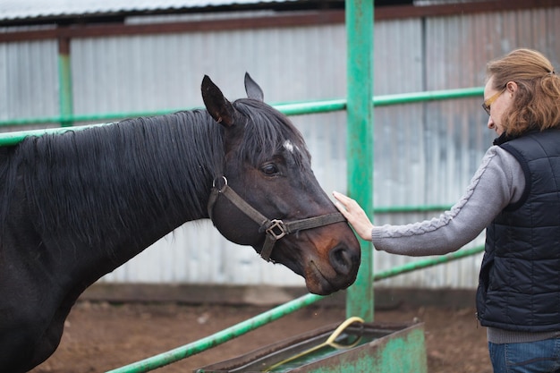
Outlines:
{"type": "Polygon", "coordinates": [[[300,132],[248,75],[245,86],[249,98],[230,103],[205,77],[207,110],[0,148],[0,371],[46,360],[81,292],[191,220],[211,217],[310,292],[352,284],[359,244],[300,132]]]}

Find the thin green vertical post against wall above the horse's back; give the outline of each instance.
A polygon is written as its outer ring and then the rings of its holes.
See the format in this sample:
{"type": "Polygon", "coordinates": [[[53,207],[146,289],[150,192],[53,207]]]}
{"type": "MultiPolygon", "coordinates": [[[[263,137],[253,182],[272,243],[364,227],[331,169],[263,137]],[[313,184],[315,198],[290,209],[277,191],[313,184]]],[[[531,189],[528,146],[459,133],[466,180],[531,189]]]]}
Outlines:
{"type": "Polygon", "coordinates": [[[70,67],[70,39],[58,39],[58,100],[63,127],[72,126],[72,69],[70,67]]]}

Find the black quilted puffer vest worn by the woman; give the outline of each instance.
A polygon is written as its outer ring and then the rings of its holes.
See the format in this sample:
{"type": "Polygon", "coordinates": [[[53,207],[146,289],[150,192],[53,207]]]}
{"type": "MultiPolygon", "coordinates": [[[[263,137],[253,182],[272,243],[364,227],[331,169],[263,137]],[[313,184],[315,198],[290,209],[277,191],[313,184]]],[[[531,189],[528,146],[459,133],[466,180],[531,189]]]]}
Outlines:
{"type": "Polygon", "coordinates": [[[560,131],[530,132],[500,146],[522,165],[525,191],[487,228],[480,324],[560,331],[560,131]]]}

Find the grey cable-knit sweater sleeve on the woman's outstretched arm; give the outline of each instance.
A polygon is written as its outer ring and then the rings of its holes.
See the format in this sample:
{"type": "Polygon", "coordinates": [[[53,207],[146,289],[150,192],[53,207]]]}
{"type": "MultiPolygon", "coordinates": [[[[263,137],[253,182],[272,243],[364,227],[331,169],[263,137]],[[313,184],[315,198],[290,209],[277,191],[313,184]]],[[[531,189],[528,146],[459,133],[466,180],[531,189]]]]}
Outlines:
{"type": "Polygon", "coordinates": [[[474,240],[496,215],[519,200],[525,177],[519,162],[503,148],[488,148],[467,190],[439,217],[410,225],[374,226],[376,250],[414,257],[443,255],[474,240]]]}

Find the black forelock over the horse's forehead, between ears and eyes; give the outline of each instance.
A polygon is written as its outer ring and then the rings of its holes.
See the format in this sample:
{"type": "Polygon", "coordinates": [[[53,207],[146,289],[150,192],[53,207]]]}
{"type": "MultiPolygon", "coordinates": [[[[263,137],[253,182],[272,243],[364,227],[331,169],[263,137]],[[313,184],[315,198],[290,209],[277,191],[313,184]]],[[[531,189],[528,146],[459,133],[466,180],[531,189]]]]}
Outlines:
{"type": "Polygon", "coordinates": [[[303,136],[287,116],[259,100],[243,98],[233,105],[247,119],[240,157],[257,166],[271,154],[282,153],[298,167],[310,166],[311,156],[303,136]]]}

